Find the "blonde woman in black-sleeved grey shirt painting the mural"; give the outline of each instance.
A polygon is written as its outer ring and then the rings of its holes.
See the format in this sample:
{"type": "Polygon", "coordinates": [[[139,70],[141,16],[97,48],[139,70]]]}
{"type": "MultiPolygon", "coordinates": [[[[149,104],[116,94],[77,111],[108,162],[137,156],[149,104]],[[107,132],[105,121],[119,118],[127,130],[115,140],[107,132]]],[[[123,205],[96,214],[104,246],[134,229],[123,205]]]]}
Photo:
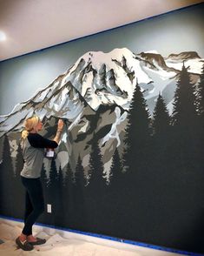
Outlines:
{"type": "Polygon", "coordinates": [[[42,245],[45,239],[32,235],[32,226],[44,211],[43,187],[41,170],[43,166],[44,148],[56,148],[63,131],[63,120],[58,121],[56,137],[53,140],[43,138],[37,132],[43,130],[40,118],[33,116],[25,120],[23,138],[23,170],[21,180],[26,190],[24,227],[21,235],[16,239],[16,245],[24,251],[31,251],[33,246],[42,245]]]}

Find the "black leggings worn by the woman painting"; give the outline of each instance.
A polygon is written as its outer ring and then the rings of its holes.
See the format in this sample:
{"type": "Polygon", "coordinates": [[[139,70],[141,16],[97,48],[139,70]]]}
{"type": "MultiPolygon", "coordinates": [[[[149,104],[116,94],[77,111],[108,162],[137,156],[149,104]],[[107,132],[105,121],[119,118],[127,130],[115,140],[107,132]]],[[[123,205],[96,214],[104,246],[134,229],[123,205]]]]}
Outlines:
{"type": "Polygon", "coordinates": [[[36,219],[44,211],[43,187],[40,178],[21,179],[26,189],[23,234],[28,236],[32,234],[32,226],[36,219]]]}

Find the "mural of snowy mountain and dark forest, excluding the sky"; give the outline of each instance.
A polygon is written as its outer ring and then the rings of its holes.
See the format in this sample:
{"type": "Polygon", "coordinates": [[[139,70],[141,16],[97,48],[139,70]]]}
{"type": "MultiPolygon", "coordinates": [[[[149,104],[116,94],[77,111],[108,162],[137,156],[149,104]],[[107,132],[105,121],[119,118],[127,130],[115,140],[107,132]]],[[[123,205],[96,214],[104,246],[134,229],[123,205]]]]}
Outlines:
{"type": "Polygon", "coordinates": [[[40,223],[203,254],[203,83],[195,51],[87,52],[0,116],[0,213],[23,218],[25,118],[39,116],[46,138],[63,118],[40,223]]]}

